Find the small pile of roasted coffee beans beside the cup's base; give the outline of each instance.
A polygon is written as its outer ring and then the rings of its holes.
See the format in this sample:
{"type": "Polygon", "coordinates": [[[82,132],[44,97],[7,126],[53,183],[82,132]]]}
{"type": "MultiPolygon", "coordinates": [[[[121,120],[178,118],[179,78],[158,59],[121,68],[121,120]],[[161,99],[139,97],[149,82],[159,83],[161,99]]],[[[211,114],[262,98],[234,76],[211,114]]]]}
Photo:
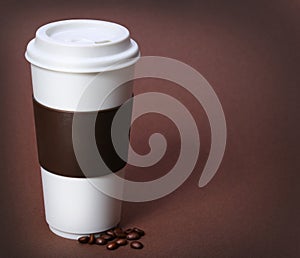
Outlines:
{"type": "Polygon", "coordinates": [[[96,244],[96,245],[106,245],[108,250],[115,250],[119,246],[125,246],[130,242],[130,247],[133,249],[142,249],[144,245],[137,241],[145,232],[139,228],[128,228],[123,231],[122,228],[117,227],[107,230],[104,233],[100,233],[99,237],[95,237],[94,234],[89,236],[82,236],[78,238],[78,242],[81,244],[96,244]]]}

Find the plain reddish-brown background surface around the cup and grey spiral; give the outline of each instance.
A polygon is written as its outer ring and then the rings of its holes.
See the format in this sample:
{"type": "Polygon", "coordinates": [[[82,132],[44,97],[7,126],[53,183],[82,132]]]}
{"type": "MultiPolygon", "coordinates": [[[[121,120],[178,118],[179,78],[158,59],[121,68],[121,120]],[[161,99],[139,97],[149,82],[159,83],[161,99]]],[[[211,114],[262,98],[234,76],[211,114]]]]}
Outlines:
{"type": "MultiPolygon", "coordinates": [[[[298,1],[1,1],[1,257],[299,257],[299,2],[298,1]],[[146,230],[143,250],[109,252],[55,236],[44,220],[33,123],[27,42],[42,24],[67,18],[127,26],[143,55],[176,58],[214,87],[226,115],[221,167],[203,189],[197,181],[210,146],[208,120],[196,100],[172,83],[136,82],[135,93],[178,98],[200,129],[192,176],[175,192],[124,203],[122,226],[146,230]]],[[[138,107],[136,107],[138,108],[138,107]]],[[[137,120],[136,151],[165,133],[159,164],[127,167],[149,180],[176,162],[178,131],[162,116],[137,120]]]]}

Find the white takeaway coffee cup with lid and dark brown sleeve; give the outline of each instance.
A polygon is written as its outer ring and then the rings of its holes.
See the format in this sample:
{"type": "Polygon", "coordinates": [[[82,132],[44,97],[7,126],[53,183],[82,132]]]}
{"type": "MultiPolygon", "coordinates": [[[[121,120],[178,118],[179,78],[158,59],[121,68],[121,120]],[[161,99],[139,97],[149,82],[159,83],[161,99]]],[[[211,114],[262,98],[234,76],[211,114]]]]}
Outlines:
{"type": "MultiPolygon", "coordinates": [[[[99,191],[83,173],[72,145],[72,119],[74,114],[85,117],[97,112],[101,120],[96,123],[95,138],[103,143],[97,145],[99,151],[113,172],[122,171],[126,161],[114,151],[109,128],[118,107],[132,97],[131,82],[121,82],[133,74],[138,45],[121,25],[64,20],[40,27],[25,57],[31,63],[38,156],[50,230],[77,239],[116,226],[121,201],[99,191]],[[96,87],[87,91],[91,83],[96,87]],[[88,101],[79,105],[83,94],[88,101]],[[99,107],[108,96],[109,101],[99,107]]],[[[106,176],[100,175],[98,180],[106,176]]]]}

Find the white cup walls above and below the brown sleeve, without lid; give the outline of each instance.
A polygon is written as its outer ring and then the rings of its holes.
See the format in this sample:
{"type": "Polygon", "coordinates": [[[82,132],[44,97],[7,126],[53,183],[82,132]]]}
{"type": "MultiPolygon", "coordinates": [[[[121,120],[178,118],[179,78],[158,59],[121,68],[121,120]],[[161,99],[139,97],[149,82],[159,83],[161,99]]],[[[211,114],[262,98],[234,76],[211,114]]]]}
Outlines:
{"type": "MultiPolygon", "coordinates": [[[[119,81],[129,78],[132,66],[101,74],[56,72],[34,65],[31,65],[31,71],[35,101],[59,112],[91,112],[99,111],[99,108],[105,112],[122,105],[132,96],[132,85],[118,85],[119,81]],[[87,98],[91,101],[78,106],[82,93],[91,82],[99,87],[88,91],[90,96],[87,98]],[[117,89],[116,94],[99,107],[116,87],[124,89],[117,89]]],[[[107,176],[102,176],[103,180],[107,176]]],[[[47,171],[42,166],[41,177],[46,221],[55,234],[77,239],[80,235],[112,228],[120,222],[122,202],[103,194],[87,178],[72,177],[72,174],[62,176],[60,171],[47,171]]]]}

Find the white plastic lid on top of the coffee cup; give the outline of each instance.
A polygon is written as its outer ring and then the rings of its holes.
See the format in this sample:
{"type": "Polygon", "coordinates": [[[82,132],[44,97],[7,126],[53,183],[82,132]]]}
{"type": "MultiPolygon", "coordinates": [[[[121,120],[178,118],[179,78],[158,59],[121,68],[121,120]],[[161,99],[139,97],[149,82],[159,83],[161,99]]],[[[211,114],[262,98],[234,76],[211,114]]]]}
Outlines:
{"type": "Polygon", "coordinates": [[[54,71],[90,73],[132,65],[139,49],[119,24],[65,20],[40,27],[25,57],[33,65],[54,71]]]}

